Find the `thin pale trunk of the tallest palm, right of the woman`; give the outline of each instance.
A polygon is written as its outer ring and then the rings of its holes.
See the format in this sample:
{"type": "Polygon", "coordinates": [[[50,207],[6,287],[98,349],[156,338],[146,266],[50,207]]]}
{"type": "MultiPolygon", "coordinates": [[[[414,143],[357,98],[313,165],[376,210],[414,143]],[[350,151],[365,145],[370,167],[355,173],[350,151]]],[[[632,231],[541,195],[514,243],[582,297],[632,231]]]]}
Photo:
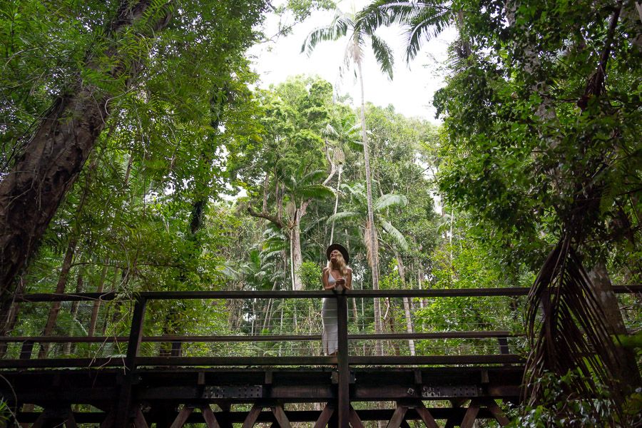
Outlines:
{"type": "MultiPolygon", "coordinates": [[[[365,177],[366,177],[366,196],[368,205],[368,233],[370,233],[370,251],[371,268],[372,268],[372,290],[379,290],[379,252],[377,251],[377,230],[374,225],[374,210],[372,209],[372,175],[370,174],[370,154],[368,151],[368,136],[365,124],[365,95],[363,91],[363,72],[360,60],[357,60],[357,70],[359,71],[359,83],[361,86],[361,138],[363,140],[363,158],[365,162],[365,177]]],[[[374,333],[380,334],[381,327],[381,306],[379,299],[374,299],[374,333]]],[[[381,341],[374,341],[374,349],[377,355],[383,355],[381,341]]]]}

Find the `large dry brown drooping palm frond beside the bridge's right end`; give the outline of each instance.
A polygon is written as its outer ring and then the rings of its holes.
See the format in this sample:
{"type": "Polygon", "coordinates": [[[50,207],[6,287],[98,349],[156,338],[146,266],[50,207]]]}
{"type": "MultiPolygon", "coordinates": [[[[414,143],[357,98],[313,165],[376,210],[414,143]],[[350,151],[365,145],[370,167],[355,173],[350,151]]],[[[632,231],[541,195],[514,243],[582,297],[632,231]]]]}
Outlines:
{"type": "MultiPolygon", "coordinates": [[[[544,396],[542,385],[535,381],[545,372],[560,377],[579,372],[581,377],[569,385],[575,391],[569,394],[594,397],[597,382],[614,386],[618,362],[610,327],[568,235],[551,251],[531,287],[526,328],[531,354],[525,380],[531,385],[531,403],[544,396]]],[[[614,403],[621,403],[618,388],[609,389],[614,403]]]]}

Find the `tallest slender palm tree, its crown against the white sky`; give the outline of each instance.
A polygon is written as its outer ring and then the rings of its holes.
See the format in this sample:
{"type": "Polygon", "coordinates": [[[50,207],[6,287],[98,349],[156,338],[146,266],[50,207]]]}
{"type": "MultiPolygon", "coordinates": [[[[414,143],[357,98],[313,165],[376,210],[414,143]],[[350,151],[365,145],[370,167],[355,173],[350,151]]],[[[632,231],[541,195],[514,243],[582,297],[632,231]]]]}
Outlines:
{"type": "MultiPolygon", "coordinates": [[[[334,19],[330,25],[322,26],[315,29],[307,35],[301,52],[305,52],[308,56],[312,54],[312,50],[320,41],[336,41],[342,37],[348,36],[348,44],[345,49],[345,63],[348,66],[356,66],[357,77],[361,87],[361,136],[363,141],[363,158],[365,161],[365,175],[366,175],[366,189],[367,189],[367,208],[368,208],[368,221],[371,225],[370,232],[370,258],[372,268],[372,289],[379,290],[379,255],[377,254],[374,245],[377,243],[377,232],[374,230],[374,215],[372,210],[372,173],[370,172],[370,153],[368,152],[368,140],[365,126],[365,99],[363,90],[363,58],[364,48],[367,41],[370,41],[370,46],[374,52],[375,58],[381,70],[392,79],[392,50],[379,36],[374,34],[370,27],[357,26],[354,14],[345,14],[337,9],[334,19]]],[[[379,307],[378,300],[374,300],[374,330],[381,332],[381,308],[379,307]]],[[[381,346],[377,346],[377,354],[381,355],[381,346]]]]}

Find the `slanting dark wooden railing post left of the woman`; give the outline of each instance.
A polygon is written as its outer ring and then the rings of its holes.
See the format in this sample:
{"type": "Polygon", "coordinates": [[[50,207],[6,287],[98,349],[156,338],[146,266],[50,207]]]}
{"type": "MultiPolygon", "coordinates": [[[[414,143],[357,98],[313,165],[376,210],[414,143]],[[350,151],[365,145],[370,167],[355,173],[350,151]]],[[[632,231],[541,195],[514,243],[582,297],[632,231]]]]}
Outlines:
{"type": "Polygon", "coordinates": [[[136,371],[136,356],[143,339],[143,321],[145,320],[146,305],[147,299],[145,297],[140,295],[136,297],[127,345],[127,356],[125,358],[125,379],[121,387],[121,395],[118,397],[114,427],[128,426],[127,420],[129,418],[129,408],[131,407],[131,386],[134,372],[136,371]]]}

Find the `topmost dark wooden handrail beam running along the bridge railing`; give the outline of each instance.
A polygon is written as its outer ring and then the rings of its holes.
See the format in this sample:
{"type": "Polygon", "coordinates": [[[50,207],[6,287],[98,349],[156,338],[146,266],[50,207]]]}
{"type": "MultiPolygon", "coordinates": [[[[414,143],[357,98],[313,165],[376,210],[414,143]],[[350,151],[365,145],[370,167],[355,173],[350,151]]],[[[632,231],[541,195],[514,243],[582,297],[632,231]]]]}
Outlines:
{"type": "MultiPolygon", "coordinates": [[[[528,295],[530,287],[459,288],[440,290],[350,290],[348,297],[483,297],[528,295]]],[[[642,292],[642,285],[616,285],[617,294],[642,292]]],[[[193,299],[315,299],[330,297],[332,291],[153,291],[138,293],[147,300],[193,299]]],[[[73,302],[81,300],[114,300],[116,293],[83,292],[75,294],[38,293],[16,296],[16,302],[73,302]]]]}

